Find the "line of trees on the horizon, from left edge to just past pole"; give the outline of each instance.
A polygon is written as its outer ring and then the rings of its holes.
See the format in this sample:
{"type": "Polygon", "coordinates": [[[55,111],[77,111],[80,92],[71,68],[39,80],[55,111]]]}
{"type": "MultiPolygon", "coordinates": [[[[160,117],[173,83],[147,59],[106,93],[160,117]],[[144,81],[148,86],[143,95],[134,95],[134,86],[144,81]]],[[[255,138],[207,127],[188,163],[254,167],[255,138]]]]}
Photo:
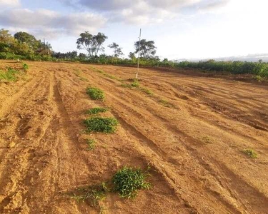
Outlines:
{"type": "MultiPolygon", "coordinates": [[[[76,46],[79,50],[86,51],[86,54],[79,53],[77,51],[69,51],[67,53],[56,52],[52,50],[51,44],[40,39],[36,39],[35,36],[27,32],[17,32],[12,36],[8,30],[0,30],[0,53],[16,54],[19,56],[42,56],[53,57],[61,59],[81,59],[81,60],[96,60],[97,58],[122,58],[123,51],[119,44],[113,42],[107,47],[112,50],[112,55],[105,54],[104,42],[108,37],[103,33],[96,35],[90,34],[89,31],[85,31],[79,35],[76,40],[76,46]]],[[[139,51],[139,41],[134,42],[134,51],[129,53],[129,58],[136,58],[139,51]]],[[[142,39],[140,41],[140,56],[144,60],[154,59],[159,60],[158,56],[155,56],[157,47],[154,41],[147,41],[142,39]]]]}

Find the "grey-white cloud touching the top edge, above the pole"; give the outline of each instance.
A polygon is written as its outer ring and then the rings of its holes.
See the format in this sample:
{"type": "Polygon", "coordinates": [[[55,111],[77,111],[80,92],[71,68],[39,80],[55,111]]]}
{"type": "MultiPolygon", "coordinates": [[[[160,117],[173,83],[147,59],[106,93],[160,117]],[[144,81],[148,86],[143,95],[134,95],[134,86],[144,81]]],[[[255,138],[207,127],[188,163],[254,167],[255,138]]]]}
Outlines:
{"type": "Polygon", "coordinates": [[[229,0],[59,0],[104,14],[111,22],[147,25],[177,18],[184,9],[213,10],[229,0]]]}

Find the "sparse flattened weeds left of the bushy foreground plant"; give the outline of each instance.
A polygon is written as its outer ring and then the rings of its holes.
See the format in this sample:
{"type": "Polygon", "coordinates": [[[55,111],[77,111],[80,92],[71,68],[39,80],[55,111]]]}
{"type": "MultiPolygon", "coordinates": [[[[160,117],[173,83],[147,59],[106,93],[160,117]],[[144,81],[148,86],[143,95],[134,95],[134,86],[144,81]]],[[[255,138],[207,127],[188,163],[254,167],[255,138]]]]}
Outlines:
{"type": "Polygon", "coordinates": [[[86,187],[77,188],[71,198],[77,200],[77,202],[87,202],[91,206],[99,205],[99,200],[106,198],[106,183],[101,185],[91,185],[86,187]]]}

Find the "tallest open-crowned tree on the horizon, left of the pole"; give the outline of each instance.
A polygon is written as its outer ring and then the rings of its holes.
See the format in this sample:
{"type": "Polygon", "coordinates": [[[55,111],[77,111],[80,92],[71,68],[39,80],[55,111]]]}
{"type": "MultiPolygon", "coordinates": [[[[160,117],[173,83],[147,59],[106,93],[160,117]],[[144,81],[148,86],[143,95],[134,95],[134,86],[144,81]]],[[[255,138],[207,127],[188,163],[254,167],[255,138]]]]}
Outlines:
{"type": "Polygon", "coordinates": [[[89,34],[89,31],[85,31],[80,34],[79,39],[77,39],[77,49],[85,49],[89,53],[89,57],[96,58],[99,51],[104,51],[104,41],[108,37],[105,34],[98,33],[96,35],[89,34]]]}

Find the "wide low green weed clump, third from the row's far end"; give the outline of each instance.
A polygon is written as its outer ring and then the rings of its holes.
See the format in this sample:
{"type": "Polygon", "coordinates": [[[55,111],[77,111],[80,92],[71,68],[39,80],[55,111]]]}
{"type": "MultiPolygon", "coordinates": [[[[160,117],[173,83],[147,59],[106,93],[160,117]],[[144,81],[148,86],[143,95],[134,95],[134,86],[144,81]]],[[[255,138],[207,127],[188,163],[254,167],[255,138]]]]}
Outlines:
{"type": "Polygon", "coordinates": [[[119,122],[116,120],[116,118],[94,117],[84,120],[84,124],[88,133],[94,131],[102,133],[114,133],[119,122]]]}

